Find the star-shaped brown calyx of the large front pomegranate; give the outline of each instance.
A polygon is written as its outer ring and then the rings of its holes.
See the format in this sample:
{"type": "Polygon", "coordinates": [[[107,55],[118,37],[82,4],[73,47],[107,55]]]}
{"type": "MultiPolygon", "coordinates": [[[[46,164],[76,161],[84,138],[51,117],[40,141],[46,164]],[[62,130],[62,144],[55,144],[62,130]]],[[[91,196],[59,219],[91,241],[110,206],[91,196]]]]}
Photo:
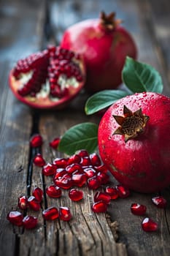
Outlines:
{"type": "Polygon", "coordinates": [[[113,135],[124,135],[125,143],[144,132],[144,127],[150,118],[142,113],[142,108],[133,113],[125,105],[123,106],[123,116],[113,115],[113,117],[117,124],[120,124],[113,135]]]}

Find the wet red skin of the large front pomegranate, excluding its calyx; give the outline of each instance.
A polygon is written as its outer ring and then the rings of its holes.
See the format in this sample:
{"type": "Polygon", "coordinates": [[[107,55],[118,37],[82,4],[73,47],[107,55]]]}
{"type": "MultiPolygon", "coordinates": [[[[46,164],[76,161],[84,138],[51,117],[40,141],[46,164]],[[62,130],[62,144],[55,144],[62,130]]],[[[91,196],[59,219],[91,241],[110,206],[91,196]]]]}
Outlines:
{"type": "Polygon", "coordinates": [[[98,127],[101,159],[113,176],[136,192],[158,192],[170,184],[170,98],[144,92],[118,100],[98,127]],[[125,143],[124,135],[113,135],[120,127],[114,116],[123,116],[123,105],[149,116],[144,132],[125,143]]]}

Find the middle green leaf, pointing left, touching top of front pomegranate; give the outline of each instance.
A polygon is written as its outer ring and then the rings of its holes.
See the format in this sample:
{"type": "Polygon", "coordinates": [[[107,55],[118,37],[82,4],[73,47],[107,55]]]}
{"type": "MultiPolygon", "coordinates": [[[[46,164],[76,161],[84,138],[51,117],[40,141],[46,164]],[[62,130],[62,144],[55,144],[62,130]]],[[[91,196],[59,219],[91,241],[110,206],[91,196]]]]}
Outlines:
{"type": "Polygon", "coordinates": [[[99,91],[93,96],[89,97],[85,103],[85,113],[92,115],[104,108],[108,108],[110,105],[115,103],[117,99],[121,99],[128,95],[127,91],[123,90],[104,90],[99,91]]]}

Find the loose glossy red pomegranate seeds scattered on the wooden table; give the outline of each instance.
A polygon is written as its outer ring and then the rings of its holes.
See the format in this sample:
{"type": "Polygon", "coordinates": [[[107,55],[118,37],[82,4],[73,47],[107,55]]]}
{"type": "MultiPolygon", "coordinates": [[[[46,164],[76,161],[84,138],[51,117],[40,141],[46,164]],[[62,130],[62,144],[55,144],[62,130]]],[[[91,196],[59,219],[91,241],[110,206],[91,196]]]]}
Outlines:
{"type": "MultiPolygon", "coordinates": [[[[31,141],[32,147],[41,146],[41,136],[35,135],[31,141]]],[[[41,154],[36,154],[33,162],[42,167],[44,176],[52,176],[53,184],[45,189],[49,197],[60,198],[62,189],[66,189],[70,200],[76,203],[83,199],[83,192],[80,188],[87,186],[89,189],[96,190],[91,205],[91,210],[96,214],[106,212],[111,200],[130,195],[129,189],[123,185],[119,184],[115,187],[107,185],[109,181],[107,167],[101,163],[101,159],[96,153],[88,154],[88,151],[83,149],[69,158],[55,158],[52,163],[46,163],[41,154]]],[[[30,197],[22,195],[18,198],[18,208],[24,211],[26,208],[39,211],[42,207],[42,198],[42,189],[36,187],[30,197]]],[[[162,196],[152,197],[152,203],[158,208],[166,207],[166,200],[162,196]]],[[[131,204],[131,213],[134,215],[144,216],[146,211],[147,207],[142,204],[131,204]]],[[[42,217],[47,221],[55,219],[69,221],[72,219],[72,214],[66,206],[58,208],[51,206],[42,211],[42,217]]],[[[36,217],[23,217],[19,211],[9,211],[7,219],[13,225],[23,226],[26,229],[34,228],[37,225],[36,217]]],[[[142,230],[146,232],[158,230],[158,224],[149,217],[145,217],[142,221],[142,230]]]]}

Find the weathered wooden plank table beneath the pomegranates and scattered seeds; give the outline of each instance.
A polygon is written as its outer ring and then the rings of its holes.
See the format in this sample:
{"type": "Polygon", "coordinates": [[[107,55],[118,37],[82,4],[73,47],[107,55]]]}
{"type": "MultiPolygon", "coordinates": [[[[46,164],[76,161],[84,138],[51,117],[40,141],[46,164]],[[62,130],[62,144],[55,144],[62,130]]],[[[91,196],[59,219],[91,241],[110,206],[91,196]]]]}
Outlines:
{"type": "Polygon", "coordinates": [[[61,200],[47,197],[42,203],[42,208],[69,206],[74,215],[70,222],[45,222],[41,211],[28,210],[28,214],[38,217],[39,225],[34,230],[23,230],[12,227],[6,219],[7,212],[16,209],[19,195],[29,194],[34,186],[45,189],[51,182],[31,164],[35,154],[29,147],[31,135],[42,135],[42,154],[50,162],[62,156],[49,147],[50,140],[82,121],[99,122],[98,116],[85,116],[85,93],[65,110],[31,110],[9,90],[9,70],[21,57],[48,43],[58,44],[66,27],[97,18],[101,10],[116,11],[117,18],[124,20],[136,40],[139,61],[158,69],[163,78],[163,94],[170,96],[169,0],[0,1],[0,255],[170,255],[169,189],[161,192],[168,200],[165,210],[152,205],[152,195],[131,192],[127,199],[112,200],[107,214],[93,214],[90,204],[94,192],[84,188],[82,203],[72,203],[66,196],[68,192],[61,200]],[[158,232],[144,233],[143,217],[130,211],[134,202],[147,206],[148,215],[158,222],[158,232]]]}

